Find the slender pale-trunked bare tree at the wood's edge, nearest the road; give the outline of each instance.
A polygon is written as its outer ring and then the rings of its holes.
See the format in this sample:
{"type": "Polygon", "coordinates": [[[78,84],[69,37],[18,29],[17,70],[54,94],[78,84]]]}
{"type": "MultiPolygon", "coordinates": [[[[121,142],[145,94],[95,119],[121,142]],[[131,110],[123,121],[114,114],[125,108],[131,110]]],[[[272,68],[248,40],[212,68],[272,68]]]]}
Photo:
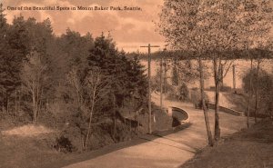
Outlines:
{"type": "Polygon", "coordinates": [[[76,93],[78,108],[87,114],[88,127],[86,129],[86,138],[83,141],[83,147],[86,150],[96,104],[105,98],[106,94],[109,94],[109,83],[99,68],[89,70],[83,82],[80,80],[80,75],[76,68],[73,68],[67,75],[67,82],[73,87],[76,93]]]}

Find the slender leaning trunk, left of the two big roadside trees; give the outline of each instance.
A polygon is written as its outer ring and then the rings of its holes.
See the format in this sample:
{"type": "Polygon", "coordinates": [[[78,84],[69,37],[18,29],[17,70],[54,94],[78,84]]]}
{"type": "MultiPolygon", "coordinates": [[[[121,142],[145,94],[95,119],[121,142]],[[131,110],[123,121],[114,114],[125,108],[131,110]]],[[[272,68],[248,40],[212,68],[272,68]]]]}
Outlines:
{"type": "Polygon", "coordinates": [[[199,74],[200,74],[201,101],[202,101],[202,106],[203,106],[203,111],[204,111],[205,124],[206,124],[206,128],[207,128],[208,145],[213,146],[214,142],[213,142],[212,134],[210,131],[209,120],[208,120],[208,115],[207,115],[207,106],[206,106],[206,102],[205,102],[203,63],[202,63],[200,56],[199,56],[198,62],[199,62],[199,74]]]}

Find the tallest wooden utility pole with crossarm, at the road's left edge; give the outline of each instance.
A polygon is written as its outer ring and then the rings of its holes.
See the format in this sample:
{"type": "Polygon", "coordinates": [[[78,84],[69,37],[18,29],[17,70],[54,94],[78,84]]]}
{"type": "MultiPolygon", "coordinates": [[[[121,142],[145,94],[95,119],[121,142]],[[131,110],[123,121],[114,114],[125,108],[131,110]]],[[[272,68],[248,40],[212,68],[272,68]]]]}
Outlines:
{"type": "Polygon", "coordinates": [[[158,45],[148,44],[147,46],[140,46],[148,48],[148,109],[149,109],[149,117],[148,117],[148,132],[152,133],[152,104],[151,104],[151,47],[159,47],[158,45]]]}

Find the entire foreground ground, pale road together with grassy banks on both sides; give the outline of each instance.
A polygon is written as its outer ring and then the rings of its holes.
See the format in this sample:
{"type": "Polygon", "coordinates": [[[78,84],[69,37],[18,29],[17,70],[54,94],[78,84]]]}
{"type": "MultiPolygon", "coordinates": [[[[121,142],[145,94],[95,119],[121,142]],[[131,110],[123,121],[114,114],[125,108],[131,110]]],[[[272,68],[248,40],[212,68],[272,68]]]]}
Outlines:
{"type": "MultiPolygon", "coordinates": [[[[153,101],[158,103],[158,95],[153,101]]],[[[260,122],[246,129],[246,118],[220,113],[223,139],[207,146],[204,117],[192,104],[164,101],[189,113],[191,125],[167,133],[143,135],[88,153],[59,153],[51,146],[51,130],[40,127],[32,136],[4,135],[0,167],[272,167],[273,126],[260,122]],[[238,133],[237,133],[238,132],[238,133]]],[[[213,111],[209,112],[213,126],[213,111]]],[[[31,129],[26,127],[25,129],[31,129]]],[[[19,130],[23,133],[24,129],[19,130]]]]}

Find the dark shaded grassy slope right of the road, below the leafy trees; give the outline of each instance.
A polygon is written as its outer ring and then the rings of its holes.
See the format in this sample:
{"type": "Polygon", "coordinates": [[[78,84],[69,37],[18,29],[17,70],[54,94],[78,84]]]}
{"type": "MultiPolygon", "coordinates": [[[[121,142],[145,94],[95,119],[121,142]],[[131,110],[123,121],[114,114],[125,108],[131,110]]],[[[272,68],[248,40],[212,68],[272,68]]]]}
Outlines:
{"type": "Polygon", "coordinates": [[[181,168],[261,168],[273,167],[273,124],[269,121],[207,147],[181,168]]]}

